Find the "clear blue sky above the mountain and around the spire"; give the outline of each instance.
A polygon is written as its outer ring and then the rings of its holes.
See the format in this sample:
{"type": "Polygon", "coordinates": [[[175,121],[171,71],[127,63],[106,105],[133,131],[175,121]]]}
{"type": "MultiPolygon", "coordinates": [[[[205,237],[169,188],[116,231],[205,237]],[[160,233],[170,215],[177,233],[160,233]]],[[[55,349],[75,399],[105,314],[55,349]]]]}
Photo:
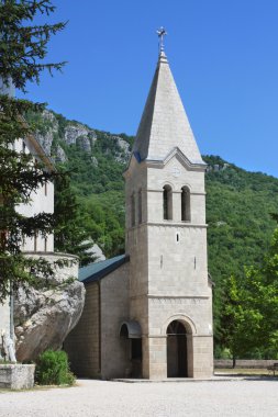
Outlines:
{"type": "Polygon", "coordinates": [[[64,74],[29,86],[66,117],[135,134],[154,75],[156,30],[202,154],[278,177],[277,0],[54,0],[68,20],[49,44],[64,74]]]}

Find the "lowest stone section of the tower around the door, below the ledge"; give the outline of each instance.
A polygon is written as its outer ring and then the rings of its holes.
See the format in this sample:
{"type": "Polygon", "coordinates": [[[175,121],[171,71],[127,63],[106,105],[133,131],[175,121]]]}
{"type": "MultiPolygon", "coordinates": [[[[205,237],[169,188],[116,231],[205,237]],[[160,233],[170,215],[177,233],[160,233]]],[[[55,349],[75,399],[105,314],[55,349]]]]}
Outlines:
{"type": "Polygon", "coordinates": [[[186,356],[182,351],[171,358],[175,351],[168,337],[143,338],[143,377],[148,380],[166,380],[167,377],[209,379],[213,375],[213,339],[212,336],[188,335],[186,356]],[[168,338],[168,340],[167,340],[168,338]],[[178,369],[178,360],[181,365],[178,369]],[[174,372],[173,372],[174,371],[174,372]],[[177,374],[175,374],[175,371],[177,374]]]}

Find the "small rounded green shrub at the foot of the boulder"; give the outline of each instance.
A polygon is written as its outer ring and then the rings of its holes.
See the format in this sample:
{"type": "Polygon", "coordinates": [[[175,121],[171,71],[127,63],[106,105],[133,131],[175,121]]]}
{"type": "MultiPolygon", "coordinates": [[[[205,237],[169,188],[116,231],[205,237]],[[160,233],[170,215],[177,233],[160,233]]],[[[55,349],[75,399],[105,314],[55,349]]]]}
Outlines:
{"type": "Polygon", "coordinates": [[[46,350],[36,361],[35,381],[41,385],[73,385],[67,353],[63,350],[46,350]]]}

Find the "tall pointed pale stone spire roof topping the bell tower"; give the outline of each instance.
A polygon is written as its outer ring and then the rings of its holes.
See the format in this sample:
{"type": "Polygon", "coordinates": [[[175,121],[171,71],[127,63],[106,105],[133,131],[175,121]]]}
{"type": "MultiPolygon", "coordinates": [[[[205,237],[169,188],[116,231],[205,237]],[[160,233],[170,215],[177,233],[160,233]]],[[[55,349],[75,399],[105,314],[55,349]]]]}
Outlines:
{"type": "Polygon", "coordinates": [[[203,164],[168,60],[160,53],[135,138],[137,161],[162,160],[178,147],[191,164],[203,164]]]}

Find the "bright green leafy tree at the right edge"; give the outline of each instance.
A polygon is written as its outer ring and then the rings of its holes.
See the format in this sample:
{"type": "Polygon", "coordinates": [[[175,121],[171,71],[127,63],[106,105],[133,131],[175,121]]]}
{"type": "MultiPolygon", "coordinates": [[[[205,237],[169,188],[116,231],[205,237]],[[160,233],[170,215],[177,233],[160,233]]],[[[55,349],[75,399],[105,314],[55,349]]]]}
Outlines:
{"type": "Polygon", "coordinates": [[[255,350],[277,356],[278,348],[278,228],[262,267],[245,268],[242,279],[226,280],[222,316],[223,339],[234,358],[255,350]]]}

